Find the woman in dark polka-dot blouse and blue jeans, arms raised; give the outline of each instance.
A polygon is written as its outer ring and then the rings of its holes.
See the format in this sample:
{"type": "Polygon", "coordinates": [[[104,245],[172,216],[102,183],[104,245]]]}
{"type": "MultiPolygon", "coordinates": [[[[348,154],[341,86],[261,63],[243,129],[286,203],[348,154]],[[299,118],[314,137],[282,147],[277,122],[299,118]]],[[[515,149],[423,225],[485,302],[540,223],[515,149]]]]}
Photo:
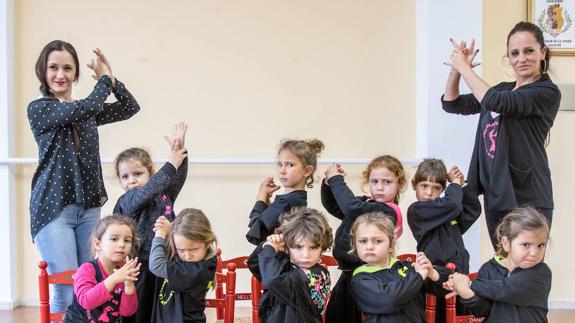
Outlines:
{"type": "MultiPolygon", "coordinates": [[[[36,61],[42,97],[28,105],[28,120],[38,144],[38,168],[32,178],[30,226],[48,272],[77,269],[90,260],[90,235],[107,195],[102,181],[98,126],[126,120],[140,107],[113,76],[99,50],[88,67],[96,86],[83,100],[72,99],[79,62],[74,47],[55,40],[36,61]],[[105,103],[113,93],[117,102],[105,103]]],[[[53,311],[73,300],[71,285],[55,285],[53,311]]]]}

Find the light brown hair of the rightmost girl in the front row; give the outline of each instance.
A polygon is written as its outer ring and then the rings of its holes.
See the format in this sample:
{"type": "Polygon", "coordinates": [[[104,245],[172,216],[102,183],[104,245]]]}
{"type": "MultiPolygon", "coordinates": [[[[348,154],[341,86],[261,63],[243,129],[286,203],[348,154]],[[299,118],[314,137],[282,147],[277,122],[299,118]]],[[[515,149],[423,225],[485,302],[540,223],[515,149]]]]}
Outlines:
{"type": "Polygon", "coordinates": [[[497,251],[496,254],[500,257],[507,257],[507,251],[503,249],[501,239],[506,237],[511,243],[521,231],[536,231],[544,230],[549,238],[549,222],[543,214],[536,209],[528,206],[515,208],[507,213],[501,223],[495,229],[497,236],[497,251]]]}

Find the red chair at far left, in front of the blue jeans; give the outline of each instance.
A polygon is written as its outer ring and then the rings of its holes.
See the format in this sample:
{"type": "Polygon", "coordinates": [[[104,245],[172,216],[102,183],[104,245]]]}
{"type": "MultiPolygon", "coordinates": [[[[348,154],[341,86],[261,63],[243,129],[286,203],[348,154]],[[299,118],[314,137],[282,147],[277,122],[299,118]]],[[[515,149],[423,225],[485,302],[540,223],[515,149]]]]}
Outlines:
{"type": "Polygon", "coordinates": [[[40,323],[62,322],[66,313],[50,313],[50,284],[68,284],[74,283],[72,275],[76,270],[68,270],[52,275],[48,275],[46,268],[48,263],[40,261],[40,275],[38,275],[38,289],[40,291],[40,323]]]}

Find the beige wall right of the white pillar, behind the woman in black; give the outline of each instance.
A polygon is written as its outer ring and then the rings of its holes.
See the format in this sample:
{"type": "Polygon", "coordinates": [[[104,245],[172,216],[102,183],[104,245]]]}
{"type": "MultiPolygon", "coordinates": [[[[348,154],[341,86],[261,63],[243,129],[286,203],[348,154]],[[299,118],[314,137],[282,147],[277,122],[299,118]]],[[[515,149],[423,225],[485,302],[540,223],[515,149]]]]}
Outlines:
{"type": "MultiPolygon", "coordinates": [[[[527,19],[527,1],[484,1],[483,32],[483,74],[490,84],[511,80],[512,70],[502,60],[505,55],[507,32],[515,23],[527,19]],[[504,31],[504,32],[503,32],[504,31]]],[[[555,56],[551,59],[550,75],[555,82],[575,81],[575,58],[555,56]]],[[[575,302],[575,261],[568,256],[571,253],[575,217],[572,216],[572,192],[575,173],[575,152],[571,138],[575,136],[575,114],[571,111],[559,111],[551,129],[551,143],[547,148],[551,174],[555,211],[551,229],[551,245],[546,262],[553,271],[553,286],[550,301],[575,302]]],[[[485,229],[485,226],[484,226],[485,229]]],[[[487,233],[484,230],[483,236],[487,233]]],[[[488,239],[483,239],[482,258],[490,257],[488,239]]]]}

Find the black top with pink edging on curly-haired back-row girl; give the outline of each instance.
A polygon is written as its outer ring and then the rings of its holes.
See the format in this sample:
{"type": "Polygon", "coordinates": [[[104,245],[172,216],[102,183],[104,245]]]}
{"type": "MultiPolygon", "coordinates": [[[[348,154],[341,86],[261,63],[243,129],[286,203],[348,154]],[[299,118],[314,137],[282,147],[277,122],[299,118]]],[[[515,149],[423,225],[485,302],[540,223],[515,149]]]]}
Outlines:
{"type": "Polygon", "coordinates": [[[341,270],[354,270],[363,264],[359,257],[349,253],[351,227],[355,219],[366,213],[382,212],[395,223],[397,215],[385,203],[370,200],[367,196],[355,196],[341,175],[332,176],[328,184],[324,182],[321,185],[321,203],[331,215],[341,220],[335,232],[333,256],[341,270]]]}

